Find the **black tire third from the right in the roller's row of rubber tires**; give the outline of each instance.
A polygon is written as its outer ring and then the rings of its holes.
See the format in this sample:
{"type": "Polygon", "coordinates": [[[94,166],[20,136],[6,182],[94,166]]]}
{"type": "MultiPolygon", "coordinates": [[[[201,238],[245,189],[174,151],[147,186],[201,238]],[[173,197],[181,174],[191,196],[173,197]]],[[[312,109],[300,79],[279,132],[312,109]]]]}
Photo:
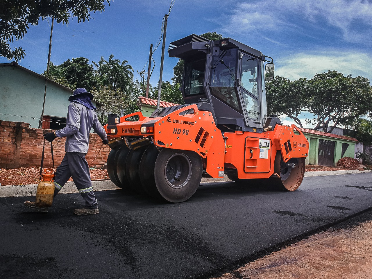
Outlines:
{"type": "Polygon", "coordinates": [[[125,176],[128,180],[128,185],[137,193],[144,193],[144,189],[140,179],[140,160],[146,147],[138,148],[137,150],[130,150],[125,163],[125,176]]]}

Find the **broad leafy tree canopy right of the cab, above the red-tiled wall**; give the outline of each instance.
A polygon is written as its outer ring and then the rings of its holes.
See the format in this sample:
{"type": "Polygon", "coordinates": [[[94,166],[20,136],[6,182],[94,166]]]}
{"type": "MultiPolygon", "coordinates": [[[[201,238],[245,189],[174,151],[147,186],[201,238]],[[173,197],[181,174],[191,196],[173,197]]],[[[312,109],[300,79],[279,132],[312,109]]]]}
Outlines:
{"type": "Polygon", "coordinates": [[[338,71],[315,74],[295,81],[276,76],[266,83],[269,113],[294,119],[301,127],[299,115],[314,115],[307,121],[314,129],[331,132],[337,125],[350,125],[359,116],[372,111],[372,87],[368,78],[344,77],[338,71]]]}

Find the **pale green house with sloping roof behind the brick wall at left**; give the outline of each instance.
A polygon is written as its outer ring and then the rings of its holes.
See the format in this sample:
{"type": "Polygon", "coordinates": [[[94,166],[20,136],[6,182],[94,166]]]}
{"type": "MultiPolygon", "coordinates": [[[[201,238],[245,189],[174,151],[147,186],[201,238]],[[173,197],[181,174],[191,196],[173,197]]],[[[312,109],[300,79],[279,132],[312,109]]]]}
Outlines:
{"type": "MultiPolygon", "coordinates": [[[[16,62],[0,64],[0,120],[26,122],[39,128],[46,78],[16,62]]],[[[48,80],[42,128],[61,129],[66,125],[68,97],[73,90],[48,80]]],[[[93,100],[93,105],[101,103],[93,100]]]]}

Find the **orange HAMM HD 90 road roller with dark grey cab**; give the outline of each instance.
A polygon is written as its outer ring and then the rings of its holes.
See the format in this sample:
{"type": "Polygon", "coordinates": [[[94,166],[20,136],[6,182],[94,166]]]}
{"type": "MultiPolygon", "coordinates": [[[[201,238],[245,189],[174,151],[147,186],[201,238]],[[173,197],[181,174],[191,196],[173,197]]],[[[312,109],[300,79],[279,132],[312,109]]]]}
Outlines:
{"type": "Polygon", "coordinates": [[[231,38],[195,34],[172,42],[168,53],[185,60],[185,105],[149,117],[108,116],[112,182],[169,202],[189,199],[202,177],[224,174],[247,186],[260,179],[296,190],[309,144],[295,125],[267,115],[264,81],[274,77],[273,59],[231,38]]]}

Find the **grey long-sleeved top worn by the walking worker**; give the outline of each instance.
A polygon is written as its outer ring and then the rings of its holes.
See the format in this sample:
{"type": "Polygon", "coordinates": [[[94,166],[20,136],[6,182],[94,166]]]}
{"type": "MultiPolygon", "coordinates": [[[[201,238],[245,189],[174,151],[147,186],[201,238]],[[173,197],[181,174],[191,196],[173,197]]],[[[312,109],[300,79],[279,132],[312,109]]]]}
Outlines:
{"type": "Polygon", "coordinates": [[[57,137],[66,137],[66,152],[88,152],[89,132],[94,130],[102,140],[107,139],[105,129],[99,123],[97,114],[80,103],[73,102],[68,105],[67,125],[55,131],[57,137]]]}

